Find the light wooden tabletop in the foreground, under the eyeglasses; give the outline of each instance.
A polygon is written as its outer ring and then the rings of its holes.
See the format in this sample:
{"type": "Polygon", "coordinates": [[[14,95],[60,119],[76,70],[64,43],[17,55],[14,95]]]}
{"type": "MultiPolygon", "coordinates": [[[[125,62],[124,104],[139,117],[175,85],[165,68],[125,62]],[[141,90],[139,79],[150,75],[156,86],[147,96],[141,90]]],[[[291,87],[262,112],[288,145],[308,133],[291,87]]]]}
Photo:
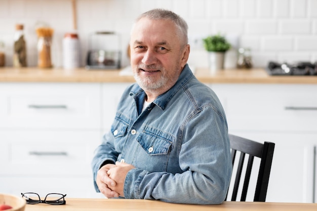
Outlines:
{"type": "Polygon", "coordinates": [[[317,210],[317,203],[276,203],[276,202],[235,202],[225,201],[220,205],[196,205],[196,204],[174,204],[156,200],[142,199],[84,199],[84,198],[66,198],[65,205],[49,204],[27,204],[25,211],[97,211],[97,210],[139,210],[139,211],[247,211],[247,210],[270,210],[270,211],[306,211],[317,210]]]}

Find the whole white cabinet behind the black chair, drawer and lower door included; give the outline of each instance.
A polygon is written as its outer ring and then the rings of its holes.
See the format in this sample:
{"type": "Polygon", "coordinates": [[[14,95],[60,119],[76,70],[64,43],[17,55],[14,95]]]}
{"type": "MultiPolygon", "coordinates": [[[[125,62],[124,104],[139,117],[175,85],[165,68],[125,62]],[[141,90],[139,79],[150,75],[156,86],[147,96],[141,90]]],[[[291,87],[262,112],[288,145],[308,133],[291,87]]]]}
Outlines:
{"type": "Polygon", "coordinates": [[[275,143],[266,201],[316,202],[317,86],[211,87],[224,106],[229,133],[275,143]]]}

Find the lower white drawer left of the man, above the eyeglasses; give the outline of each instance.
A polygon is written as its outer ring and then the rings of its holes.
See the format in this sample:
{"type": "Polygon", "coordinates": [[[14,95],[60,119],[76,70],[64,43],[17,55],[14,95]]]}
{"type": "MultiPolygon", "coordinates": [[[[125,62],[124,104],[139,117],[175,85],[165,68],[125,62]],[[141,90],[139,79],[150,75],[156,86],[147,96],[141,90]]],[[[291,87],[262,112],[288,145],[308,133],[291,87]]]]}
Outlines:
{"type": "Polygon", "coordinates": [[[0,190],[94,196],[90,162],[99,131],[0,131],[0,190]]]}

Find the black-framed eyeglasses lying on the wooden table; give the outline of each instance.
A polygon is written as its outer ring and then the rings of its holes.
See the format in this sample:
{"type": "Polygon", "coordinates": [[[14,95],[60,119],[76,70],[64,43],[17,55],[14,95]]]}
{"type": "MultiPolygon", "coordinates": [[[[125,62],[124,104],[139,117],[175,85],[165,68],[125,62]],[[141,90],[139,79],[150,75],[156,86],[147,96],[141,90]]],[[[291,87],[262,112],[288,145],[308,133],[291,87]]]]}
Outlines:
{"type": "Polygon", "coordinates": [[[47,203],[52,205],[66,204],[65,195],[60,193],[49,193],[44,200],[41,200],[37,193],[21,193],[22,198],[25,198],[27,204],[47,203]]]}

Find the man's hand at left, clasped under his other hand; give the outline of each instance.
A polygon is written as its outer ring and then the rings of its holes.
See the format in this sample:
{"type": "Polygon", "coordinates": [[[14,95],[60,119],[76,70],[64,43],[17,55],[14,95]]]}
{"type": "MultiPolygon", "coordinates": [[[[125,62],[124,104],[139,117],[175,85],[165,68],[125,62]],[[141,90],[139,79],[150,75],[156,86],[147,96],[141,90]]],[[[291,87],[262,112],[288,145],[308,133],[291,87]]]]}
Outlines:
{"type": "Polygon", "coordinates": [[[108,176],[108,171],[113,167],[115,167],[114,164],[106,164],[102,166],[98,171],[96,178],[96,183],[100,192],[107,198],[119,197],[119,193],[111,190],[114,186],[116,186],[115,181],[108,176]]]}

